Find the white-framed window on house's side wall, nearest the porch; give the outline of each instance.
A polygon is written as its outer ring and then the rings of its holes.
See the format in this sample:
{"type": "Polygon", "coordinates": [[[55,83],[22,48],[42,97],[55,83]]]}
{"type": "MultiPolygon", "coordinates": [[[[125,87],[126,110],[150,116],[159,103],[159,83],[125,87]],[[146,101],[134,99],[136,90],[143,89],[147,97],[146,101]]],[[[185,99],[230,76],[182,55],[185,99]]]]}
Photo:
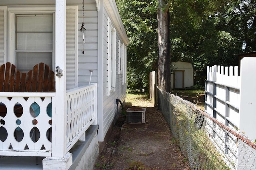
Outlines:
{"type": "Polygon", "coordinates": [[[116,86],[116,29],[108,18],[108,95],[116,86]]]}

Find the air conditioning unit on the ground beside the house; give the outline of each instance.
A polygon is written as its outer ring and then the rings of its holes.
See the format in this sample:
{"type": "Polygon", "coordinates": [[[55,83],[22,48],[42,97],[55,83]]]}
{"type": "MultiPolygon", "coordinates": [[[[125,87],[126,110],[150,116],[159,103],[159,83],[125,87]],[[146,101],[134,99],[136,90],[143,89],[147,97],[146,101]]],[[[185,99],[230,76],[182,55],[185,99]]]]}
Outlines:
{"type": "Polygon", "coordinates": [[[126,110],[126,123],[146,123],[146,108],[134,107],[126,110]]]}

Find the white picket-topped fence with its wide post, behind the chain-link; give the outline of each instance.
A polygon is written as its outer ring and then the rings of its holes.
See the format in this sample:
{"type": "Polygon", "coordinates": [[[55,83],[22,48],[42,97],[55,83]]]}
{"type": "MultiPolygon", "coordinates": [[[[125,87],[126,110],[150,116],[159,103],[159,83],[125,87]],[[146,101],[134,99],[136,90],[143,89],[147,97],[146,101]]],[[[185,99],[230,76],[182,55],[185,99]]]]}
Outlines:
{"type": "Polygon", "coordinates": [[[240,70],[238,66],[207,67],[205,113],[230,130],[224,133],[215,121],[207,119],[206,129],[231,169],[256,169],[255,73],[255,57],[244,57],[240,70]]]}

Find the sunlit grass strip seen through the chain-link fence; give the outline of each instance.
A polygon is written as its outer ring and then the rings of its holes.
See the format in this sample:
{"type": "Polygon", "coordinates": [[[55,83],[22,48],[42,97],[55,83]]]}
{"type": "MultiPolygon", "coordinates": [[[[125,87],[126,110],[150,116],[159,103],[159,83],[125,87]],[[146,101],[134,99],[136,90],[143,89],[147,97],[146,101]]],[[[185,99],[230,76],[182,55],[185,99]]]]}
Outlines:
{"type": "MultiPolygon", "coordinates": [[[[191,160],[194,164],[194,169],[221,169],[229,170],[223,160],[223,156],[218,152],[215,145],[209,139],[209,134],[206,131],[207,126],[203,124],[198,127],[196,122],[197,113],[188,113],[188,110],[182,110],[178,105],[175,106],[178,120],[179,140],[182,145],[182,150],[192,156],[191,160]]],[[[201,117],[204,120],[204,117],[201,117]]],[[[200,121],[201,122],[201,121],[200,121]]],[[[206,123],[206,122],[205,122],[206,123]]],[[[190,160],[190,161],[191,161],[190,160]]],[[[191,163],[191,162],[190,162],[191,163]]]]}

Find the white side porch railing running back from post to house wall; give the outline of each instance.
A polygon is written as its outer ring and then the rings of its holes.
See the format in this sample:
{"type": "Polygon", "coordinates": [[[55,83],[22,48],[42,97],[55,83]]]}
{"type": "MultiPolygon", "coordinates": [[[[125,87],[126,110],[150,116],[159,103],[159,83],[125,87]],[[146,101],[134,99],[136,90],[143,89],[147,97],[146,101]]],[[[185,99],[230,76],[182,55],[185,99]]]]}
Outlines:
{"type": "Polygon", "coordinates": [[[67,99],[67,150],[80,139],[85,140],[85,131],[96,124],[97,84],[70,89],[67,99]]]}

